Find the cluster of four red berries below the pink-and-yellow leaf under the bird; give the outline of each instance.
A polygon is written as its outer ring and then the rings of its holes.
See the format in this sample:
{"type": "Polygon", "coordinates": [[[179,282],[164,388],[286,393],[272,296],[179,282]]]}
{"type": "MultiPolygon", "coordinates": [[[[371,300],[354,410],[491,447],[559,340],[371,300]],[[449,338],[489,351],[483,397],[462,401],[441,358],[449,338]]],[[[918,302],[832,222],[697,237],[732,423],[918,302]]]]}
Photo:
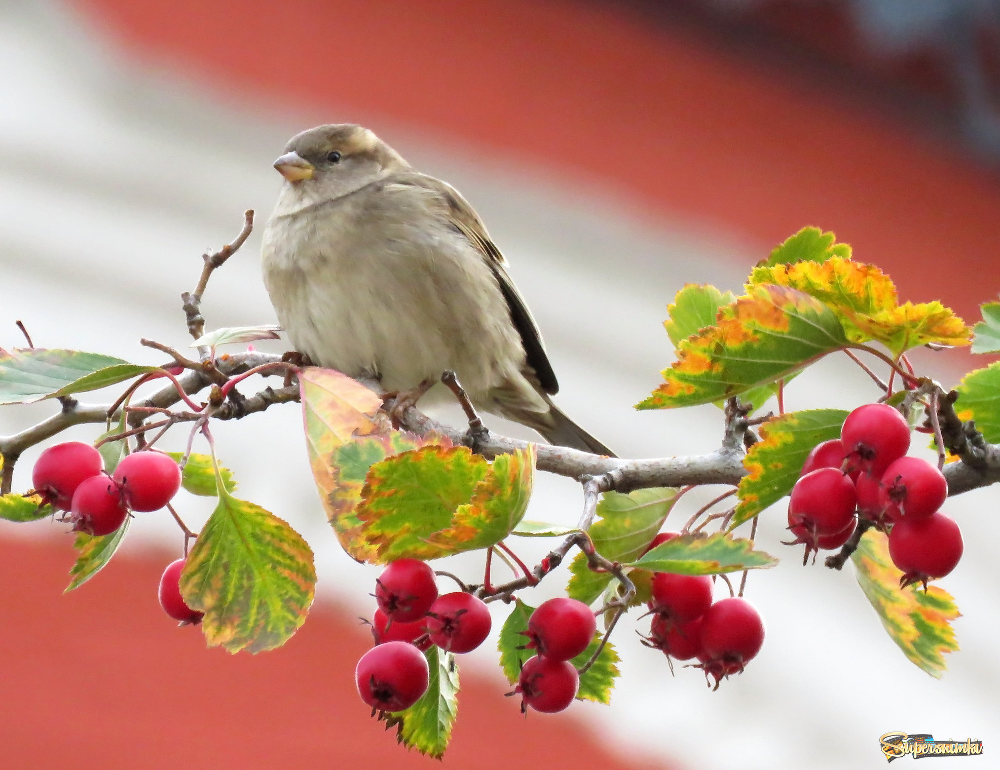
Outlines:
{"type": "Polygon", "coordinates": [[[376,711],[402,711],[427,691],[422,650],[476,649],[490,633],[486,604],[464,591],[438,595],[434,570],[416,559],[394,561],[375,581],[375,646],[354,671],[361,700],[376,711]]]}

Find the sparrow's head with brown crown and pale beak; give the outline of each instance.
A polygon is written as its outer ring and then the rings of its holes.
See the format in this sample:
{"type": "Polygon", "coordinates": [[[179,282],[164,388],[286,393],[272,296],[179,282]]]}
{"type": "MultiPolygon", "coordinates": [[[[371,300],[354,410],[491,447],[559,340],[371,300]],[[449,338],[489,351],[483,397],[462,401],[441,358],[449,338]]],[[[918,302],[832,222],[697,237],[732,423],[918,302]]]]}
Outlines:
{"type": "Polygon", "coordinates": [[[409,168],[399,153],[363,126],[337,123],[293,136],[274,167],[309,198],[338,198],[393,171],[409,168]]]}

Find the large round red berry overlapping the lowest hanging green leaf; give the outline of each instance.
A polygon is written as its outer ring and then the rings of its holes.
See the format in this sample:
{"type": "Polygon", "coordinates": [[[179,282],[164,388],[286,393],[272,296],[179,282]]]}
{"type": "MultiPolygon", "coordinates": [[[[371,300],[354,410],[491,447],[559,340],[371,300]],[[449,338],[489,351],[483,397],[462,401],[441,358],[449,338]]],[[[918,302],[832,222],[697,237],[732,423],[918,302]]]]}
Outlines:
{"type": "Polygon", "coordinates": [[[358,695],[378,711],[408,709],[427,692],[429,679],[427,659],[407,642],[372,647],[354,669],[358,695]]]}

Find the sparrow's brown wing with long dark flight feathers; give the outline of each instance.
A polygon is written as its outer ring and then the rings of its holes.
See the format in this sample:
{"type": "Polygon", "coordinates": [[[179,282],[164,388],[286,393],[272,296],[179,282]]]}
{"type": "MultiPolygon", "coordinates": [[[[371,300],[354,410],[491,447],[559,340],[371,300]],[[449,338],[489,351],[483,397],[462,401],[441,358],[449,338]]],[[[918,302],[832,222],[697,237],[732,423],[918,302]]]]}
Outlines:
{"type": "Polygon", "coordinates": [[[527,356],[528,365],[535,370],[538,382],[542,390],[549,395],[559,392],[559,383],[556,380],[555,372],[552,371],[552,364],[545,353],[545,344],[542,342],[542,333],[538,330],[535,319],[531,317],[531,311],[524,302],[524,298],[514,285],[510,275],[507,274],[507,260],[490,240],[486,226],[479,215],[476,214],[472,206],[459,194],[458,190],[447,182],[440,179],[408,172],[396,174],[391,179],[394,184],[412,185],[433,190],[438,193],[443,204],[443,214],[448,223],[464,235],[469,243],[482,254],[486,264],[490,266],[493,274],[500,284],[500,291],[503,292],[507,300],[507,307],[510,310],[511,320],[514,327],[521,335],[521,342],[524,345],[524,352],[527,356]]]}

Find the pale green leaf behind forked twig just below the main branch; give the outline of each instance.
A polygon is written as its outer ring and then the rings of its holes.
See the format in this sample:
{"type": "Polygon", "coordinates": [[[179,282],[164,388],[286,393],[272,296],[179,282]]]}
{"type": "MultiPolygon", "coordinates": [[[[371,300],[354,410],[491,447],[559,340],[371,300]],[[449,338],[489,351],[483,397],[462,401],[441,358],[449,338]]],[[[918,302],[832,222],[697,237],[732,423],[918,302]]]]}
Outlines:
{"type": "MultiPolygon", "coordinates": [[[[590,538],[597,552],[611,561],[638,559],[660,531],[676,497],[677,490],[670,487],[637,489],[627,495],[605,493],[590,527],[590,538]]],[[[573,558],[570,572],[572,577],[566,592],[584,604],[591,604],[613,580],[605,572],[590,570],[582,553],[573,558]]]]}

